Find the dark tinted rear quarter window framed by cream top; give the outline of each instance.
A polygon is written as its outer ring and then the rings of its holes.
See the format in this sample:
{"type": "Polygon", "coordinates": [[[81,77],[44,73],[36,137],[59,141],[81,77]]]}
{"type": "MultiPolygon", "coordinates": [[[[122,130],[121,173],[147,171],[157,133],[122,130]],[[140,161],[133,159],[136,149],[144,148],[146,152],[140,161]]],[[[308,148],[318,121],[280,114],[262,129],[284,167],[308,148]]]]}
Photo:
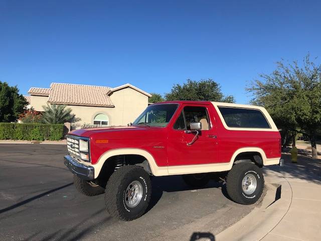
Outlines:
{"type": "Polygon", "coordinates": [[[271,129],[264,114],[258,109],[218,106],[228,127],[271,129]]]}

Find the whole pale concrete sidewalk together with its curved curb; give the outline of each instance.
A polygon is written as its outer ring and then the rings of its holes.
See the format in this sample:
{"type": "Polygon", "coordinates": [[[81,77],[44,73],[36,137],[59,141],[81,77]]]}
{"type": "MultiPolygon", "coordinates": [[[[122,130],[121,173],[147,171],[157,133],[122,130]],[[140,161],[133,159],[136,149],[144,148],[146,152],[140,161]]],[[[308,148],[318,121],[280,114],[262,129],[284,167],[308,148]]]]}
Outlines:
{"type": "Polygon", "coordinates": [[[216,241],[321,240],[321,160],[299,155],[292,164],[289,154],[282,158],[284,167],[264,168],[270,190],[261,207],[217,234],[216,241]]]}

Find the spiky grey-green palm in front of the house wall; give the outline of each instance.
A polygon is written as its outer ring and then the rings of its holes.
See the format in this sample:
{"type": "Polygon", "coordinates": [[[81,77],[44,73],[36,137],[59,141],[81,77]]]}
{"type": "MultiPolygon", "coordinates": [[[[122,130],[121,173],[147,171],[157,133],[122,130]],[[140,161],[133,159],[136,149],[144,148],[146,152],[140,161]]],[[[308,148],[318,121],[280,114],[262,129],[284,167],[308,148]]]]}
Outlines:
{"type": "Polygon", "coordinates": [[[42,113],[41,121],[44,124],[64,124],[65,122],[78,122],[80,118],[71,113],[72,109],[67,108],[62,104],[47,104],[42,106],[44,112],[42,113]]]}

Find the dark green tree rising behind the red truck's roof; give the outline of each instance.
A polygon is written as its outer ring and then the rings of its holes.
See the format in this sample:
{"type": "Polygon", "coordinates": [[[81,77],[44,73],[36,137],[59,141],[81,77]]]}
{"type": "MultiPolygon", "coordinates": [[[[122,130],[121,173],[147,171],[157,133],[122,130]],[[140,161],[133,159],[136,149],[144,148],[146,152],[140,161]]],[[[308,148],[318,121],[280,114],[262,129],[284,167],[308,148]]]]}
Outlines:
{"type": "Polygon", "coordinates": [[[234,102],[232,95],[224,96],[221,86],[213,79],[194,81],[188,79],[183,85],[176,84],[165,94],[166,100],[208,100],[234,102]]]}

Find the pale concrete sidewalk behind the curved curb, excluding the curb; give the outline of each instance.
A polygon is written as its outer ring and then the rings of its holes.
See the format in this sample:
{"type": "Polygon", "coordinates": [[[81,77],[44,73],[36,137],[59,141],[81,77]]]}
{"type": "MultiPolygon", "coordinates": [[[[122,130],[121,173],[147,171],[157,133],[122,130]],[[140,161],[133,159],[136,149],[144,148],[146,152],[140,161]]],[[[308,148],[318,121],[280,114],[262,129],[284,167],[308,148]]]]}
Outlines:
{"type": "Polygon", "coordinates": [[[291,203],[285,216],[262,239],[321,240],[321,161],[300,155],[292,164],[284,155],[284,167],[271,167],[266,176],[284,178],[290,185],[291,203]]]}

